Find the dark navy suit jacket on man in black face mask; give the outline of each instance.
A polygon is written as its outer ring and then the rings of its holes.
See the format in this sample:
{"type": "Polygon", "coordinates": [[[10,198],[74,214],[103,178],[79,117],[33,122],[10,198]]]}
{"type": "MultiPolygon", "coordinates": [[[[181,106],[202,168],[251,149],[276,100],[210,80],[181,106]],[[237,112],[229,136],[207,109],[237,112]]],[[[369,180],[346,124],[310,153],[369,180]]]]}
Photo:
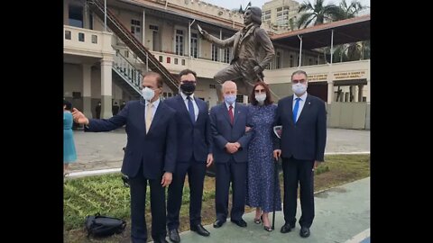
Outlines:
{"type": "Polygon", "coordinates": [[[198,117],[195,123],[189,118],[189,111],[181,95],[164,101],[176,111],[178,124],[178,162],[189,162],[194,157],[196,161],[206,163],[207,154],[212,153],[212,137],[210,134],[210,118],[207,104],[194,97],[198,106],[198,117]]]}

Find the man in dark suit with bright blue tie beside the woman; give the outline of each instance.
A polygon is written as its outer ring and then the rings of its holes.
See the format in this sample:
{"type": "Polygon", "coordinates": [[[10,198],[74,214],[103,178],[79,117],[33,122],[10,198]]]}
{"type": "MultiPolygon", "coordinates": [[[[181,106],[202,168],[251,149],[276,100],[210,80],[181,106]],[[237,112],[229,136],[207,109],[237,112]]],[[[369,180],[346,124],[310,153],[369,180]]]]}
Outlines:
{"type": "Polygon", "coordinates": [[[295,227],[300,184],[299,219],[303,238],[309,237],[314,219],[314,169],[324,161],[327,141],[327,112],[322,100],[307,94],[308,76],[302,70],[291,75],[293,95],[278,102],[275,125],[282,125],[281,139],[275,139],[273,156],[282,157],[284,175],[284,220],[281,233],[295,227]]]}

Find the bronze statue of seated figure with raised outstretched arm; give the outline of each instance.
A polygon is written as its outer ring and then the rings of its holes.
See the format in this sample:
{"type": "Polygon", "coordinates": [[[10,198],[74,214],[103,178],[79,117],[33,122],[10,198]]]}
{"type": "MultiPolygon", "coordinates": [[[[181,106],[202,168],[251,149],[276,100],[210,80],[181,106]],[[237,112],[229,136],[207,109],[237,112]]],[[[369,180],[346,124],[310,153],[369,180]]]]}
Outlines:
{"type": "MultiPolygon", "coordinates": [[[[198,25],[198,31],[204,39],[220,48],[233,47],[230,66],[220,70],[214,76],[218,84],[233,80],[238,87],[244,87],[244,91],[240,90],[240,93],[249,94],[253,85],[263,79],[263,69],[271,62],[275,51],[268,34],[260,28],[261,24],[262,10],[259,7],[249,7],[244,14],[245,27],[226,40],[210,35],[198,25]],[[259,59],[261,49],[264,50],[262,60],[259,59]],[[239,82],[239,78],[243,82],[239,82]]],[[[221,88],[220,85],[218,88],[221,88]]]]}

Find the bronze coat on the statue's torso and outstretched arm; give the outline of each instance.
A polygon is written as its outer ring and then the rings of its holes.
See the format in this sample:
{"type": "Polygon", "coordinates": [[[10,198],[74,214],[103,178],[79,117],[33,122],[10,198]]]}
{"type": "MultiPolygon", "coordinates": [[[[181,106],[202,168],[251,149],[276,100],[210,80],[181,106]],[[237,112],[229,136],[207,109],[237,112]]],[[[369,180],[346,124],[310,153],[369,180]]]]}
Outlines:
{"type": "MultiPolygon", "coordinates": [[[[244,29],[237,31],[232,37],[226,40],[220,40],[210,34],[205,35],[205,38],[221,48],[233,47],[232,57],[234,58],[230,63],[237,58],[242,60],[253,59],[253,64],[258,65],[264,69],[268,63],[272,61],[275,56],[272,41],[269,39],[265,30],[260,28],[258,24],[254,24],[244,36],[242,34],[244,29]],[[260,49],[264,49],[264,57],[259,61],[260,49]]],[[[252,63],[252,62],[245,62],[252,63]]]]}

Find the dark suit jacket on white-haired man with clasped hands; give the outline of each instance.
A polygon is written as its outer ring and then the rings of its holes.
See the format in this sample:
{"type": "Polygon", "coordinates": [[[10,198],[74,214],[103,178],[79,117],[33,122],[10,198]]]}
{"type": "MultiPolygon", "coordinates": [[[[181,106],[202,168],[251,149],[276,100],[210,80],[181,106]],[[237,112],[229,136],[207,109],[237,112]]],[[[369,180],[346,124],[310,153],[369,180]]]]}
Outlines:
{"type": "Polygon", "coordinates": [[[215,163],[226,163],[230,157],[236,162],[248,160],[248,143],[253,136],[253,130],[245,132],[245,126],[249,119],[248,108],[242,103],[235,104],[235,121],[232,125],[226,103],[220,103],[210,109],[210,127],[214,139],[213,155],[215,163]],[[239,142],[241,148],[235,154],[226,151],[227,142],[239,142]]]}

